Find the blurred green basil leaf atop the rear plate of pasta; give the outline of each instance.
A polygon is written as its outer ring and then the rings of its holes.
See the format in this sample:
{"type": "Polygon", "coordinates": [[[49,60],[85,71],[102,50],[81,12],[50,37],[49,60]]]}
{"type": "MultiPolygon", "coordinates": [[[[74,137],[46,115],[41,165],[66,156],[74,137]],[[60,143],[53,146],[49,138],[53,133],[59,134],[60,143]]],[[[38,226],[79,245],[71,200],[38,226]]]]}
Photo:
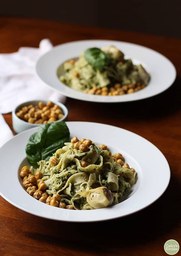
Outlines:
{"type": "Polygon", "coordinates": [[[90,65],[99,71],[102,71],[104,66],[110,64],[112,61],[109,54],[96,47],[87,49],[84,57],[90,65]]]}

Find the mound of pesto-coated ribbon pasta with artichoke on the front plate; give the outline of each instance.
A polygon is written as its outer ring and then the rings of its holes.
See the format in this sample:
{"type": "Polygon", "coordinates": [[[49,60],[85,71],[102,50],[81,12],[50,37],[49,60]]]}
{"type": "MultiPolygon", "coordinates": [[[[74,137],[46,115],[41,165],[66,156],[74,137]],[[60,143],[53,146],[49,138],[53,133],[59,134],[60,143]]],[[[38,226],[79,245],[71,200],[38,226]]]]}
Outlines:
{"type": "MultiPolygon", "coordinates": [[[[76,210],[118,204],[118,199],[135,183],[135,170],[130,169],[128,164],[126,167],[129,168],[122,167],[118,160],[123,160],[123,156],[119,153],[111,156],[105,145],[98,147],[85,139],[80,142],[72,139],[72,142],[65,143],[48,161],[41,160],[39,168],[30,168],[31,175],[37,177],[42,174],[37,183],[46,184],[44,196],[48,194],[48,198],[44,198],[44,202],[76,210]]],[[[43,199],[40,201],[43,202],[43,199]]]]}

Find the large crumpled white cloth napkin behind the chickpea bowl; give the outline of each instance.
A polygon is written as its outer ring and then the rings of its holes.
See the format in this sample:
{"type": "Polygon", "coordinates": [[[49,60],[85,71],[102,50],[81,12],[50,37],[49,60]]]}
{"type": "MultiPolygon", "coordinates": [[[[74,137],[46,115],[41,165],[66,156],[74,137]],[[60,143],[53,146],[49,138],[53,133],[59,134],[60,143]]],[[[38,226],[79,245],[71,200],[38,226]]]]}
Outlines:
{"type": "Polygon", "coordinates": [[[43,85],[35,75],[37,59],[51,48],[50,40],[43,39],[39,48],[21,47],[18,52],[0,54],[0,113],[34,99],[65,103],[65,96],[43,85]]]}

